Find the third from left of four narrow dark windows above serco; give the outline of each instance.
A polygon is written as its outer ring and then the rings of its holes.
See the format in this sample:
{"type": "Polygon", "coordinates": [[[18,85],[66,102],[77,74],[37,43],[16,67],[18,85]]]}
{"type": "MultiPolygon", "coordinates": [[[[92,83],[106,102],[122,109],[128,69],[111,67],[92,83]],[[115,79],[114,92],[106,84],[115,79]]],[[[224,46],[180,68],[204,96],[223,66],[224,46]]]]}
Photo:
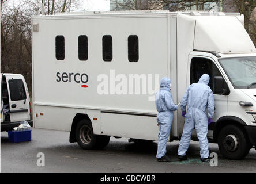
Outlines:
{"type": "Polygon", "coordinates": [[[104,61],[112,61],[112,36],[104,35],[102,37],[102,52],[104,61]]]}

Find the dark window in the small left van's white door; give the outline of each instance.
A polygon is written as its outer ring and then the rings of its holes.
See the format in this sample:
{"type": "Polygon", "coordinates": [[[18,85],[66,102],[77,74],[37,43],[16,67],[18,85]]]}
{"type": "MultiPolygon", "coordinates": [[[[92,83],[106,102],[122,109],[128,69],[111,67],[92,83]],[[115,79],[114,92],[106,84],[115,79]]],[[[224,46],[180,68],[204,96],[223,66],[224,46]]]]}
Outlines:
{"type": "Polygon", "coordinates": [[[27,99],[22,79],[9,80],[10,98],[12,101],[27,99]]]}

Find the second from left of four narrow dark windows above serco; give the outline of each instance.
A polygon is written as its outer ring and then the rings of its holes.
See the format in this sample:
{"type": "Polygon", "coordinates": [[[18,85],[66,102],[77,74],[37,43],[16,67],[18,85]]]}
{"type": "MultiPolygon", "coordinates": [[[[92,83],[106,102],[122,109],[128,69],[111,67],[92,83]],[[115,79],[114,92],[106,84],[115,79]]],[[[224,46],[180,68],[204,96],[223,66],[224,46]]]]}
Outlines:
{"type": "Polygon", "coordinates": [[[88,59],[88,39],[86,35],[80,35],[78,37],[78,57],[79,60],[88,59]]]}

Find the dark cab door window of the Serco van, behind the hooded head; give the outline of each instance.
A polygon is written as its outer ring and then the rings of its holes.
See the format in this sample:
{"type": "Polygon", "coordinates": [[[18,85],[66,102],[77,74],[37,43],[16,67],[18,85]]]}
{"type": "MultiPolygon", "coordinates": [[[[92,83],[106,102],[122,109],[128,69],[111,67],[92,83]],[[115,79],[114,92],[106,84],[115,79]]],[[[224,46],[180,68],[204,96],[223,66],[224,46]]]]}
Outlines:
{"type": "Polygon", "coordinates": [[[198,82],[203,74],[208,74],[210,76],[208,86],[213,91],[214,76],[222,76],[219,69],[210,59],[193,57],[193,59],[191,59],[190,84],[198,82]]]}

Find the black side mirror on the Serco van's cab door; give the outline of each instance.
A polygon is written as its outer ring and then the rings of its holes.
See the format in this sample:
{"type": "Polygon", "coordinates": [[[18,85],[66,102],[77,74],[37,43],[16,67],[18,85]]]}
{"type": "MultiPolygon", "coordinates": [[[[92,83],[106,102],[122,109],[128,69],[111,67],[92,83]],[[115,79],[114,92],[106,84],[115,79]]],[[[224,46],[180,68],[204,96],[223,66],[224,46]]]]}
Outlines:
{"type": "Polygon", "coordinates": [[[229,95],[230,90],[222,76],[214,76],[213,78],[213,94],[229,95]]]}

